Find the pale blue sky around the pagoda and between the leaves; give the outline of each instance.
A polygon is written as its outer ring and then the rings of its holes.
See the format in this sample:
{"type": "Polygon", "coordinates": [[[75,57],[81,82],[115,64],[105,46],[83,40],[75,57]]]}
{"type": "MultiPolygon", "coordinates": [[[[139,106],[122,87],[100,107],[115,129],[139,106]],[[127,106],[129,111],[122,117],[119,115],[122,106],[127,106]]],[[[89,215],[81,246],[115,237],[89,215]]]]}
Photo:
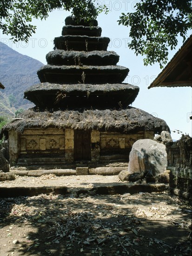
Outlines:
{"type": "MultiPolygon", "coordinates": [[[[96,1],[99,4],[106,4],[109,13],[99,14],[98,23],[102,28],[102,36],[109,37],[111,42],[108,50],[119,54],[118,65],[128,67],[130,72],[126,78],[127,83],[137,85],[140,88],[139,95],[132,103],[132,107],[141,108],[146,112],[164,119],[171,130],[180,130],[184,134],[192,135],[192,88],[151,88],[147,87],[161,72],[159,64],[145,67],[143,57],[136,56],[127,47],[129,30],[127,27],[118,25],[117,20],[122,12],[134,11],[136,0],[106,0],[96,1]]],[[[66,16],[69,12],[57,10],[50,13],[47,20],[34,20],[33,25],[37,26],[36,33],[32,35],[29,42],[18,42],[14,44],[9,36],[0,34],[0,41],[7,44],[21,54],[28,55],[46,64],[46,54],[53,50],[54,37],[61,35],[62,27],[65,25],[66,16]]],[[[188,33],[190,35],[191,32],[188,33]]],[[[169,60],[182,46],[182,39],[179,39],[177,48],[170,51],[169,60]]],[[[179,139],[180,134],[172,133],[173,139],[179,139]]]]}

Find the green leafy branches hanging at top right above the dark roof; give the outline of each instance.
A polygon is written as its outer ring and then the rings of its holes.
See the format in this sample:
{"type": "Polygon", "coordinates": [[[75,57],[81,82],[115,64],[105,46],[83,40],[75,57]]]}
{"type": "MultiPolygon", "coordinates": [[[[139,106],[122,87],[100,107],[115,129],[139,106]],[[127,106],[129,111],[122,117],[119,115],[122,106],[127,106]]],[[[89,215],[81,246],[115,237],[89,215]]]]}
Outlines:
{"type": "Polygon", "coordinates": [[[122,13],[118,20],[131,28],[128,46],[136,55],[146,55],[144,65],[159,62],[162,68],[169,47],[178,44],[178,35],[185,41],[192,29],[192,0],[141,0],[135,8],[136,12],[122,13]]]}

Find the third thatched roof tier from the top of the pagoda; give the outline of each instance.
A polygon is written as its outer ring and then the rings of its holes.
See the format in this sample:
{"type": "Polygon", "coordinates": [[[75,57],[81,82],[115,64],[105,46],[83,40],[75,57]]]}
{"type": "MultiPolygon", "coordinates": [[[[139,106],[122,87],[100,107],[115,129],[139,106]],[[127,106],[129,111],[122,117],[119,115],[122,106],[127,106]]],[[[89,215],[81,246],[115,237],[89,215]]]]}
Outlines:
{"type": "Polygon", "coordinates": [[[108,37],[86,35],[63,35],[55,37],[55,48],[65,51],[106,51],[110,39],[108,37]]]}

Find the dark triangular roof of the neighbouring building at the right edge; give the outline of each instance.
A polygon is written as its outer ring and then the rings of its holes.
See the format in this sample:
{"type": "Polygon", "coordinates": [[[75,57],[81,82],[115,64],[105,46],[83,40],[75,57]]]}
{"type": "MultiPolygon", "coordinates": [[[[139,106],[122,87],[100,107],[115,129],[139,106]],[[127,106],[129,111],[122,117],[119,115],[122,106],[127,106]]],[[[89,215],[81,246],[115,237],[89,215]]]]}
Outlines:
{"type": "Polygon", "coordinates": [[[152,87],[192,86],[192,35],[150,84],[152,87]]]}

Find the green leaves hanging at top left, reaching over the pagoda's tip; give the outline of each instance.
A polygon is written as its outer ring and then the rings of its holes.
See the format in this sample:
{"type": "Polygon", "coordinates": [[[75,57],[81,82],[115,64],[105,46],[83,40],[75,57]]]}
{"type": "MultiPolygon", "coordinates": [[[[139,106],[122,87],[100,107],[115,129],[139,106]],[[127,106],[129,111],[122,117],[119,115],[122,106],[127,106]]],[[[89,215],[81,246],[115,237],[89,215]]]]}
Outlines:
{"type": "Polygon", "coordinates": [[[72,11],[77,19],[93,20],[102,8],[95,8],[92,0],[0,0],[0,29],[10,34],[14,42],[28,41],[36,26],[32,19],[46,19],[55,9],[72,11]]]}

